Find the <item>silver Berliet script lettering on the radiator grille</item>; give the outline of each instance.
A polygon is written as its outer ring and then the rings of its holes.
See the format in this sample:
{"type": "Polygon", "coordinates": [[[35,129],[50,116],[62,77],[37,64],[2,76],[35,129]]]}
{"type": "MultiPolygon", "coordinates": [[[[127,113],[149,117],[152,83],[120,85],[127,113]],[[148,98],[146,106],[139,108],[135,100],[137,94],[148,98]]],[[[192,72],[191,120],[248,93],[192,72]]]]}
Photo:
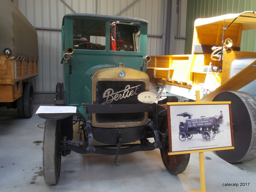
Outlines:
{"type": "Polygon", "coordinates": [[[107,99],[106,99],[105,102],[101,103],[101,105],[112,103],[113,100],[118,101],[118,100],[121,100],[123,98],[125,99],[125,98],[133,96],[133,95],[138,95],[138,93],[136,91],[138,90],[139,86],[140,85],[136,85],[134,87],[131,87],[130,85],[126,85],[124,90],[118,91],[118,92],[114,92],[113,89],[109,88],[103,93],[103,98],[107,98],[107,99]],[[123,94],[122,94],[122,92],[123,92],[123,94]]]}

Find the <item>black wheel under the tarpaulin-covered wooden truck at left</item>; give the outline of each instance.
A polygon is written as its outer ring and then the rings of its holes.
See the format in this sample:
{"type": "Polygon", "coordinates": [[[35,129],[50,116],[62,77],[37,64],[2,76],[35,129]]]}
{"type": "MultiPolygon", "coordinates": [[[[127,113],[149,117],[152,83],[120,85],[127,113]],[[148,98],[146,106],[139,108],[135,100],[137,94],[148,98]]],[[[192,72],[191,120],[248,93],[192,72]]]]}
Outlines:
{"type": "Polygon", "coordinates": [[[23,94],[17,99],[17,111],[20,118],[30,118],[34,111],[34,89],[31,82],[22,82],[23,94]]]}

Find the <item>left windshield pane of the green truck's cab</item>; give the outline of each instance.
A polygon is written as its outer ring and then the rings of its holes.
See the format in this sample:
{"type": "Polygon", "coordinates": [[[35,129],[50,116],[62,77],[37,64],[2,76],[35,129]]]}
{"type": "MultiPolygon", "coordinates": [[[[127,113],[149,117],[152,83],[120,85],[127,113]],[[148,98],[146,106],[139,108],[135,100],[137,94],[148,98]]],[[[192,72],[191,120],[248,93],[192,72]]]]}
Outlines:
{"type": "Polygon", "coordinates": [[[92,19],[73,20],[73,48],[105,50],[106,21],[92,19]]]}

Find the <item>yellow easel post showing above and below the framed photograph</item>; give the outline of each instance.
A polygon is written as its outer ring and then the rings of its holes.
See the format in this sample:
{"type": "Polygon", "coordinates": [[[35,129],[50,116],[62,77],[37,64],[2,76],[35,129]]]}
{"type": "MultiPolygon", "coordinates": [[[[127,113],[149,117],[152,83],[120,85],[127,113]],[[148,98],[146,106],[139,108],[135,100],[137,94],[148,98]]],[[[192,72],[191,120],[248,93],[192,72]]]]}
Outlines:
{"type": "MultiPolygon", "coordinates": [[[[196,91],[196,101],[200,101],[200,91],[196,91]]],[[[201,191],[190,192],[206,192],[205,191],[205,175],[204,175],[204,152],[199,152],[199,167],[200,167],[200,183],[201,191]]]]}

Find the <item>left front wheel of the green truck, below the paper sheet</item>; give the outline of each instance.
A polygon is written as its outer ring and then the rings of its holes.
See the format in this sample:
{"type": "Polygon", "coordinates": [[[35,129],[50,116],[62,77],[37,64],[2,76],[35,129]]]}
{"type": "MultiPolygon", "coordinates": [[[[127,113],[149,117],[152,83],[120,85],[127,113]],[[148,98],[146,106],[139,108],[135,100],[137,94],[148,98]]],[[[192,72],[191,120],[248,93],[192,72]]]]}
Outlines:
{"type": "Polygon", "coordinates": [[[44,128],[43,167],[44,181],[47,185],[56,185],[60,178],[60,143],[60,121],[46,120],[44,128]]]}

